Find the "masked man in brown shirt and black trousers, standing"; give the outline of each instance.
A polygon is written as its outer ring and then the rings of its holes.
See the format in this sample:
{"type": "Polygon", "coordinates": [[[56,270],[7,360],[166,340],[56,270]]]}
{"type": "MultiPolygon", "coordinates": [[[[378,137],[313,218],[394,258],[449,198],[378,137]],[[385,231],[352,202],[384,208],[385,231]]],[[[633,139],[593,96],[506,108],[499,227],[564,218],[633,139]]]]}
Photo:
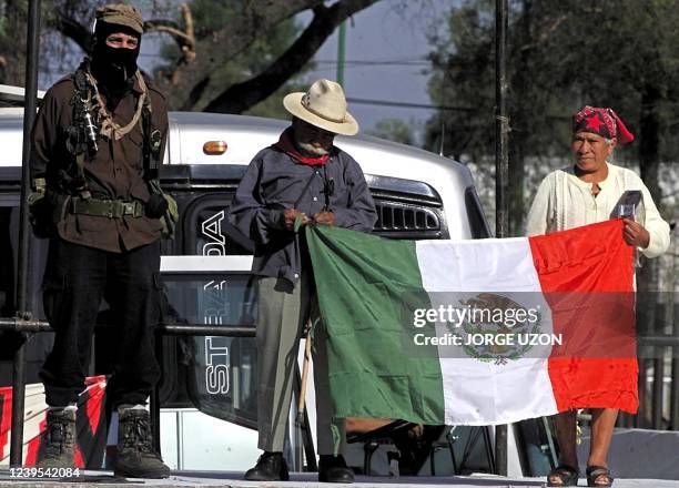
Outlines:
{"type": "Polygon", "coordinates": [[[160,238],[169,218],[158,185],[168,109],[136,67],[142,33],[136,8],[98,9],[91,61],[47,92],[32,131],[33,228],[49,237],[43,306],[55,332],[41,370],[49,406],[43,468],[74,466],[75,419],[88,415],[78,410],[78,398],[105,301],[115,336],[107,345],[107,397],[119,416],[114,472],[170,475],[152,447],[145,408],[160,378],[152,331],[160,311],[160,238]]]}

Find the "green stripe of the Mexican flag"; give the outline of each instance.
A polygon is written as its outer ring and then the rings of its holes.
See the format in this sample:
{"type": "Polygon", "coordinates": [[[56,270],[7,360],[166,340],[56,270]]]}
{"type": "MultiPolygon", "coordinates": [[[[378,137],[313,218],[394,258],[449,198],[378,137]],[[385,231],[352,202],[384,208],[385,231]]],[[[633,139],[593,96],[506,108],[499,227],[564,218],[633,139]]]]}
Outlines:
{"type": "Polygon", "coordinates": [[[413,326],[414,311],[432,307],[415,243],[320,225],[306,238],[336,416],[443,424],[437,347],[413,346],[416,333],[435,335],[413,326]]]}

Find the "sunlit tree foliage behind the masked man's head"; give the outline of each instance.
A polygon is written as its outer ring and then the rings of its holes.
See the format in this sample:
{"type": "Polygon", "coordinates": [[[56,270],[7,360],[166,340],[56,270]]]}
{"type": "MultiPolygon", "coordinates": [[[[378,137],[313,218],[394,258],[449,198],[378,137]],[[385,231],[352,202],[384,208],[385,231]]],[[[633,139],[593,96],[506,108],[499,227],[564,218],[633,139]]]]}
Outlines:
{"type": "MultiPolygon", "coordinates": [[[[308,69],[332,32],[378,0],[139,0],[145,35],[173,39],[156,82],[170,94],[171,106],[225,113],[284,115],[286,83],[308,69]],[[178,14],[181,10],[181,14],[178,14]],[[297,14],[310,12],[302,28],[297,14]],[[181,45],[181,55],[180,47],[181,45]],[[274,95],[275,100],[266,101],[274,95]]],[[[91,42],[94,9],[105,0],[43,0],[41,31],[42,85],[72,71],[91,42]],[[47,75],[47,77],[45,77],[47,75]],[[47,81],[45,81],[47,80],[47,81]]],[[[28,0],[0,0],[0,81],[23,84],[28,0]]]]}

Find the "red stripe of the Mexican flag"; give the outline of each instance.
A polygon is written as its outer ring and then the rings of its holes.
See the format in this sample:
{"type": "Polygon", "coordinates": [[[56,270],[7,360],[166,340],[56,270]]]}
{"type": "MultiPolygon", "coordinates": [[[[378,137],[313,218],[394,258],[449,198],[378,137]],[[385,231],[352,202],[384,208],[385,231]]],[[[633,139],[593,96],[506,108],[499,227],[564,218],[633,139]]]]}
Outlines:
{"type": "Polygon", "coordinates": [[[535,236],[529,243],[554,334],[564,337],[548,364],[559,411],[636,413],[634,250],[622,240],[622,221],[535,236]]]}

